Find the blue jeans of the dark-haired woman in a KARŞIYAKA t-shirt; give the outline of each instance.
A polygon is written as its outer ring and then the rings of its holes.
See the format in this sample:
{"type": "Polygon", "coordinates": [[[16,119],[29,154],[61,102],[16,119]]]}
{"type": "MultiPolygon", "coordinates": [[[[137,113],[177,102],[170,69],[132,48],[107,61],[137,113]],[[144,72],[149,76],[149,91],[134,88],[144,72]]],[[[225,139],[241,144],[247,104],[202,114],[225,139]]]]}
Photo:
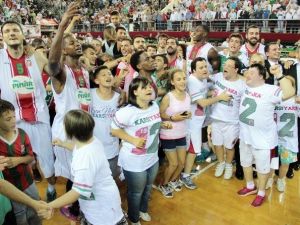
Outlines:
{"type": "Polygon", "coordinates": [[[124,170],[127,184],[128,218],[137,223],[140,220],[140,211],[148,211],[148,201],[152,184],[158,172],[158,162],[143,172],[130,172],[124,170]]]}

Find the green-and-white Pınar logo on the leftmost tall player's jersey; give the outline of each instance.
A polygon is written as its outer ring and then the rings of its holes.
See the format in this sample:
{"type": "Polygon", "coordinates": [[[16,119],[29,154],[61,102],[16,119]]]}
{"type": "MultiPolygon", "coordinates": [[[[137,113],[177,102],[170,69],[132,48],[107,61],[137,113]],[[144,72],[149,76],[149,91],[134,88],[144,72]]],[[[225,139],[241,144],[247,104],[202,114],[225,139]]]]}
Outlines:
{"type": "Polygon", "coordinates": [[[10,82],[10,87],[16,94],[31,94],[35,90],[33,80],[26,76],[15,76],[10,82]]]}

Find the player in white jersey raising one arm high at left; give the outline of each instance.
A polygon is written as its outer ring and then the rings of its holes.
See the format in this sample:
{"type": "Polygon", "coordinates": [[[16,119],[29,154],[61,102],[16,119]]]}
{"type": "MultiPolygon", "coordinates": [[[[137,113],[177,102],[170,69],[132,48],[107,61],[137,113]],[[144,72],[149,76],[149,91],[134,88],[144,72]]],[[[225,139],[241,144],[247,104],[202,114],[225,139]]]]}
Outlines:
{"type": "MultiPolygon", "coordinates": [[[[82,47],[72,34],[64,31],[73,16],[79,14],[79,3],[71,3],[62,17],[58,32],[53,39],[49,52],[49,75],[52,81],[56,104],[56,116],[52,125],[52,138],[66,140],[63,126],[65,114],[72,109],[89,110],[91,102],[89,73],[80,66],[82,47]]],[[[55,146],[55,175],[68,179],[67,191],[72,187],[71,160],[72,152],[55,146]]],[[[79,215],[78,202],[71,207],[62,208],[61,212],[69,219],[76,220],[79,215]]]]}

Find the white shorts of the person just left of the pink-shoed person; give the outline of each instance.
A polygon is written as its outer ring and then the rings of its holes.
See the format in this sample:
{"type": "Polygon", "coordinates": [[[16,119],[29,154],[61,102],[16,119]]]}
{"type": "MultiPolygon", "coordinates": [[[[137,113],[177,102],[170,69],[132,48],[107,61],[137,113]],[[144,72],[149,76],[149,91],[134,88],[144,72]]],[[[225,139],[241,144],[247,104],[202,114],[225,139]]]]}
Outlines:
{"type": "Polygon", "coordinates": [[[233,149],[239,138],[239,124],[229,124],[213,120],[211,124],[211,139],[213,145],[233,149]]]}

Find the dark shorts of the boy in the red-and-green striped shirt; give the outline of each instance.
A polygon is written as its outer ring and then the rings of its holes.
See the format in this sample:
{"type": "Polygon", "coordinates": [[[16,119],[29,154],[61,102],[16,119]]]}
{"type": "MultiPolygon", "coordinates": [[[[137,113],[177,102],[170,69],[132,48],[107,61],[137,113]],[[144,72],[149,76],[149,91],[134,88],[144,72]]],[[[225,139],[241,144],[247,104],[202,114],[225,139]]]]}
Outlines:
{"type": "MultiPolygon", "coordinates": [[[[29,195],[35,200],[39,200],[39,193],[35,186],[35,183],[31,184],[28,188],[24,190],[24,193],[29,195]]],[[[42,221],[38,217],[36,211],[24,204],[12,201],[12,206],[16,216],[16,221],[18,225],[41,225],[42,221]]]]}

